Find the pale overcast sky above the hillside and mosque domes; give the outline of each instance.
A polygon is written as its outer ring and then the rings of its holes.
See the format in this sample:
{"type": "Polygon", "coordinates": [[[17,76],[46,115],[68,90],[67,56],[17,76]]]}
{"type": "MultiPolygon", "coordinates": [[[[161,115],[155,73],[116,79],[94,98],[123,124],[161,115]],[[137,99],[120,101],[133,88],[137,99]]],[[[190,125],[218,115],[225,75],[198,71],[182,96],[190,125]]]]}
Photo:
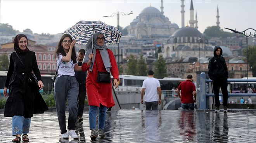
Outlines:
{"type": "MultiPolygon", "coordinates": [[[[100,20],[109,25],[117,25],[117,17],[103,17],[112,13],[120,15],[119,25],[126,27],[140,12],[149,6],[160,10],[161,0],[1,0],[0,22],[8,23],[16,30],[31,29],[33,33],[62,33],[80,20],[100,20]]],[[[163,0],[164,15],[171,23],[181,27],[181,1],[163,0]]],[[[185,0],[185,25],[189,21],[190,0],[185,0]]],[[[198,30],[216,25],[217,5],[220,13],[220,27],[237,31],[256,29],[256,0],[193,0],[194,16],[197,12],[198,30]]],[[[227,31],[227,30],[225,30],[227,31]]]]}

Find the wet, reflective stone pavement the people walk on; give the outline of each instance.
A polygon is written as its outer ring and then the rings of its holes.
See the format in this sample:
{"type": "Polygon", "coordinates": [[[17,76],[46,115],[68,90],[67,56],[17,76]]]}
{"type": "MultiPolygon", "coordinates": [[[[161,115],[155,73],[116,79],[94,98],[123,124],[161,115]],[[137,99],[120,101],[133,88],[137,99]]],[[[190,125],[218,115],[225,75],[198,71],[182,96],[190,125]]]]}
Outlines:
{"type": "MultiPolygon", "coordinates": [[[[68,113],[66,113],[68,117],[68,113]]],[[[90,143],[88,111],[76,124],[78,139],[61,139],[55,111],[31,119],[30,143],[90,143]]],[[[67,118],[66,118],[67,123],[67,118]]],[[[0,114],[0,142],[10,143],[12,118],[0,114]]],[[[106,138],[98,143],[242,142],[256,143],[256,111],[117,110],[107,112],[106,138]]]]}

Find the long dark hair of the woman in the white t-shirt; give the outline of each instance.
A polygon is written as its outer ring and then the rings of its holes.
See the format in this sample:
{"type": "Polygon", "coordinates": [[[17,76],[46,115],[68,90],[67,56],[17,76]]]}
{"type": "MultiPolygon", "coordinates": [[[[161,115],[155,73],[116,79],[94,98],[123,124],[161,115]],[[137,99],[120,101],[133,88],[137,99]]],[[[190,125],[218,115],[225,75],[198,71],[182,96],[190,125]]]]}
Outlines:
{"type": "MultiPolygon", "coordinates": [[[[59,41],[59,44],[58,44],[58,47],[57,47],[57,50],[55,52],[55,57],[59,57],[60,54],[62,54],[62,56],[67,56],[66,52],[64,51],[63,47],[62,47],[62,42],[64,40],[64,38],[66,37],[69,37],[71,42],[73,41],[72,37],[69,35],[69,34],[64,34],[62,37],[61,37],[61,40],[59,41]]],[[[77,62],[77,57],[76,57],[76,49],[75,47],[73,47],[72,49],[72,54],[71,54],[71,60],[76,63],[77,62]]]]}

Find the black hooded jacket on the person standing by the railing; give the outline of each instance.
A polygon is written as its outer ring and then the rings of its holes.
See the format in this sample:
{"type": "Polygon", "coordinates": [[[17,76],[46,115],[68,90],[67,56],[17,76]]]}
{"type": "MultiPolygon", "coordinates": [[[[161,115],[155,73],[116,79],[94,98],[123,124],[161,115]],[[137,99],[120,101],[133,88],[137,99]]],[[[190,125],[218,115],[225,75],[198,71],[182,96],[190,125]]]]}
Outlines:
{"type": "Polygon", "coordinates": [[[209,61],[208,65],[208,76],[210,79],[214,78],[222,78],[227,79],[228,78],[228,68],[227,64],[225,62],[225,58],[222,57],[222,49],[220,46],[214,47],[213,52],[214,57],[212,57],[209,61]],[[220,56],[216,55],[216,50],[220,49],[220,56]]]}

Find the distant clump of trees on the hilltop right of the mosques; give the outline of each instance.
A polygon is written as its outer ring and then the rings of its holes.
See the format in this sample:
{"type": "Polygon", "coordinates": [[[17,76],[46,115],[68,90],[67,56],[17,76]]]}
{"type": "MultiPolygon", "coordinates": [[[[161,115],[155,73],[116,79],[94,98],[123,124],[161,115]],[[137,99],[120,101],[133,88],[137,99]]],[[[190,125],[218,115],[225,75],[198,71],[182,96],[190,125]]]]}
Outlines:
{"type": "Polygon", "coordinates": [[[223,31],[223,29],[220,29],[219,26],[211,26],[211,27],[207,27],[204,30],[204,35],[207,39],[211,39],[212,37],[227,38],[227,37],[234,36],[234,33],[225,32],[223,31]]]}

